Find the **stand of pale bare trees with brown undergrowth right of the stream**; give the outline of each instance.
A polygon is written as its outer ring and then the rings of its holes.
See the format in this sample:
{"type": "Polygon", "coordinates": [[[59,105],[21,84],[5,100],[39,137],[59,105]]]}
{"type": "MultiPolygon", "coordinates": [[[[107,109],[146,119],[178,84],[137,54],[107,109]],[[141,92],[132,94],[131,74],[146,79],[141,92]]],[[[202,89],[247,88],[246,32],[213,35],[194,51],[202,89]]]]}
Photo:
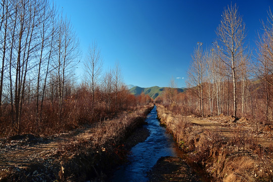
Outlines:
{"type": "MultiPolygon", "coordinates": [[[[263,124],[273,122],[273,15],[262,23],[257,50],[246,43],[246,28],[236,5],[224,9],[217,39],[197,42],[188,71],[188,89],[177,94],[177,112],[233,115],[263,124]],[[178,109],[177,109],[178,108],[178,109]]],[[[258,29],[258,28],[257,28],[258,29]]],[[[172,105],[165,97],[167,105],[172,105]]]]}

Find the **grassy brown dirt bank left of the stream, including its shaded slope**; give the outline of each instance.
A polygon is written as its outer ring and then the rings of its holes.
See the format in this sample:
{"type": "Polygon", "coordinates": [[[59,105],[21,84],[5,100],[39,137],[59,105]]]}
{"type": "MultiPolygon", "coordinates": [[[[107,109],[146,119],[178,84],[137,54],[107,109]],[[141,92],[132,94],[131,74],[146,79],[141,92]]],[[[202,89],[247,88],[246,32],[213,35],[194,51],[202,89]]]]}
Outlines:
{"type": "Polygon", "coordinates": [[[126,159],[130,146],[141,141],[131,133],[145,124],[152,108],[48,138],[19,135],[1,139],[0,181],[103,180],[107,171],[126,159]],[[132,142],[125,147],[128,137],[132,142]]]}

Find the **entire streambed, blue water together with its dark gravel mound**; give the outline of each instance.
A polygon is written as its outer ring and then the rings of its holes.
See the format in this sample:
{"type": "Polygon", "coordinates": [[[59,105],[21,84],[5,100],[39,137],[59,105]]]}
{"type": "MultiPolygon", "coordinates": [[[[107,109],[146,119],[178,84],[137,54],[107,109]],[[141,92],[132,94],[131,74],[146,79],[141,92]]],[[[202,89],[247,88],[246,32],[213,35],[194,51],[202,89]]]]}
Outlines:
{"type": "Polygon", "coordinates": [[[156,106],[145,120],[150,135],[130,151],[128,162],[119,166],[110,181],[201,181],[181,159],[172,135],[160,126],[156,106]],[[166,175],[166,174],[171,175],[166,175]]]}

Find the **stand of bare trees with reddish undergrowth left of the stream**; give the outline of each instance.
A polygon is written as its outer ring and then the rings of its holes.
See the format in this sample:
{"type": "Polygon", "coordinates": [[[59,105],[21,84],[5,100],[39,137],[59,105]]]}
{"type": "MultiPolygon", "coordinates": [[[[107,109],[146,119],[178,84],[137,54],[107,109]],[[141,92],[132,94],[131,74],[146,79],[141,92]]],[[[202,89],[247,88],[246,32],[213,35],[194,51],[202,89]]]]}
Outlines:
{"type": "Polygon", "coordinates": [[[84,61],[86,80],[78,82],[79,40],[51,1],[3,0],[0,12],[3,135],[61,132],[141,104],[122,83],[118,63],[103,72],[96,41],[84,61]]]}

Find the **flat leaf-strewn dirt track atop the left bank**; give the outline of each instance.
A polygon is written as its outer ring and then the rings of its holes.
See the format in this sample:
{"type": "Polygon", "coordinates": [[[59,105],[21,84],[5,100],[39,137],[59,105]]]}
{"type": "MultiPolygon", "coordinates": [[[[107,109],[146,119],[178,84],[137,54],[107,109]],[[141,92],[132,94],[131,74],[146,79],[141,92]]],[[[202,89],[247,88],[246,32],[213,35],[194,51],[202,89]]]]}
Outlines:
{"type": "MultiPolygon", "coordinates": [[[[68,133],[38,138],[32,134],[15,135],[0,140],[0,181],[6,176],[19,174],[32,176],[35,181],[55,178],[60,170],[55,163],[58,150],[65,144],[87,139],[95,124],[86,125],[68,133]],[[25,173],[25,171],[28,171],[25,173]]],[[[25,176],[27,177],[27,176],[25,176]]],[[[7,178],[5,179],[7,180],[7,178]]]]}

